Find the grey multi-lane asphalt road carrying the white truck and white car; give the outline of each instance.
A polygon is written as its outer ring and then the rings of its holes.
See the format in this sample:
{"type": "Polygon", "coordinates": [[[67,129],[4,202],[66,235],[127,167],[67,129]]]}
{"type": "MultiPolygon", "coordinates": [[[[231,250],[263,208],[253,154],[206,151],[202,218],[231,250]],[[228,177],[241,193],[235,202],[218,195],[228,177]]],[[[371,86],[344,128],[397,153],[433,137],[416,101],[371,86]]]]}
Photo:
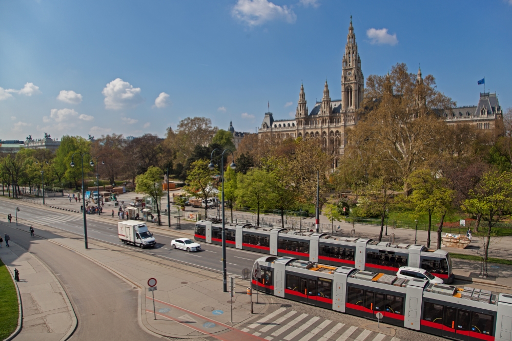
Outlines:
{"type": "MultiPolygon", "coordinates": [[[[69,232],[78,233],[84,235],[84,222],[81,214],[64,214],[57,210],[47,210],[37,208],[33,206],[25,206],[23,202],[16,201],[0,201],[0,213],[11,214],[15,216],[15,207],[20,207],[18,217],[25,220],[29,220],[34,223],[44,224],[52,227],[56,227],[69,232]]],[[[149,230],[153,233],[156,239],[156,246],[149,249],[141,249],[135,246],[128,246],[134,248],[140,252],[147,252],[150,254],[157,255],[158,257],[178,261],[194,266],[199,266],[205,269],[213,270],[216,272],[222,272],[222,249],[219,245],[212,245],[207,243],[201,244],[201,251],[199,252],[186,252],[184,250],[175,250],[171,247],[171,241],[175,238],[181,238],[182,236],[167,236],[162,235],[158,230],[151,230],[151,226],[148,226],[149,230]]],[[[98,222],[95,220],[87,221],[87,233],[89,238],[93,238],[100,241],[113,243],[116,245],[122,245],[117,237],[117,226],[112,223],[98,222]]],[[[45,231],[35,231],[36,235],[47,238],[45,231]]],[[[231,274],[241,275],[243,269],[252,269],[254,261],[263,254],[238,250],[233,248],[227,248],[227,270],[231,274]]]]}

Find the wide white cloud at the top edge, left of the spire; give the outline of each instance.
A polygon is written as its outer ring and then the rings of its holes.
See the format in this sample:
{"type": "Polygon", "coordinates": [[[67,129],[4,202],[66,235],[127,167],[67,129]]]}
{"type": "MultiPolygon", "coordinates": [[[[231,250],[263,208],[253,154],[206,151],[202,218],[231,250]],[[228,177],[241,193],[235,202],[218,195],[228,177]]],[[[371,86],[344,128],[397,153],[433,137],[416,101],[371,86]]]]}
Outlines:
{"type": "Polygon", "coordinates": [[[268,0],[238,0],[231,15],[249,26],[262,25],[271,20],[295,23],[297,16],[288,6],[277,6],[268,0]]]}

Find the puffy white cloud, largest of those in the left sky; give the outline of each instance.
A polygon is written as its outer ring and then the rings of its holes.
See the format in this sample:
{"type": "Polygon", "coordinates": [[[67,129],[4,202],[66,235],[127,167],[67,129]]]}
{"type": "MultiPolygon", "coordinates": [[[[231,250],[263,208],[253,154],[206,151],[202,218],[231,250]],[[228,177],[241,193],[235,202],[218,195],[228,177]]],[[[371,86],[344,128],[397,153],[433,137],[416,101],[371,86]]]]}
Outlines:
{"type": "Polygon", "coordinates": [[[104,102],[107,109],[130,108],[144,101],[140,96],[140,88],[134,88],[121,78],[116,78],[108,83],[101,93],[105,96],[104,102]]]}

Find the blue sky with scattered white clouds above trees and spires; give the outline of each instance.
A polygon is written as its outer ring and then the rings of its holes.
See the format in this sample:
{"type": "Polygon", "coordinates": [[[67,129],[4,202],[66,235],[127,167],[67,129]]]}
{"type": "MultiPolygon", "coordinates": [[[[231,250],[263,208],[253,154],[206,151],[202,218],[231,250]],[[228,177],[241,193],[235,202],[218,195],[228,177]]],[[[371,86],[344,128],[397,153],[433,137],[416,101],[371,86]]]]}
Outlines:
{"type": "MultiPolygon", "coordinates": [[[[0,1],[0,139],[164,136],[205,116],[254,132],[263,113],[340,97],[350,15],[364,76],[397,62],[460,105],[512,106],[512,0],[0,1]],[[373,30],[372,30],[373,29],[373,30]]],[[[292,113],[292,114],[290,114],[292,113]]]]}

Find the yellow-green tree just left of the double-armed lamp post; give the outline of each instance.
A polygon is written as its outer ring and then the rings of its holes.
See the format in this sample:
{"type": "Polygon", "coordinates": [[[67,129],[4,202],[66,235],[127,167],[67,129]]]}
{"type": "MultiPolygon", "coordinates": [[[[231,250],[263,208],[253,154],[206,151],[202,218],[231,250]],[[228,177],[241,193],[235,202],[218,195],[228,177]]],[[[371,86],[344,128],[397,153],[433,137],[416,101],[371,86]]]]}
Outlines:
{"type": "Polygon", "coordinates": [[[187,186],[183,187],[187,193],[204,200],[204,217],[208,215],[208,199],[215,195],[216,189],[213,187],[213,176],[215,169],[212,171],[208,168],[210,162],[204,159],[194,161],[191,164],[190,171],[187,176],[187,186]]]}

